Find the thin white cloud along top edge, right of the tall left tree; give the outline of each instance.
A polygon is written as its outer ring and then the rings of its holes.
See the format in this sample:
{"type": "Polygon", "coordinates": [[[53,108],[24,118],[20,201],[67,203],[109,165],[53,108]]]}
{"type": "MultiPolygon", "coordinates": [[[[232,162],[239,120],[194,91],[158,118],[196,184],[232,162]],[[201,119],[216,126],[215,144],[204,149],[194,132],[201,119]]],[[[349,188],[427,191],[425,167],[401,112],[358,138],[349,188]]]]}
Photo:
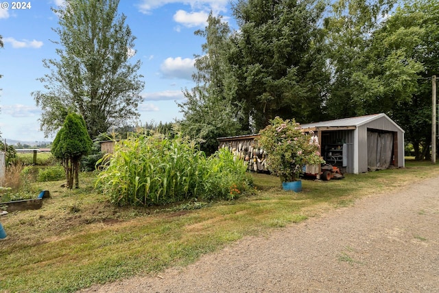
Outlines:
{"type": "Polygon", "coordinates": [[[229,0],[141,0],[138,7],[140,12],[150,14],[152,10],[171,3],[190,5],[192,10],[212,10],[213,14],[218,14],[227,11],[229,0]]]}

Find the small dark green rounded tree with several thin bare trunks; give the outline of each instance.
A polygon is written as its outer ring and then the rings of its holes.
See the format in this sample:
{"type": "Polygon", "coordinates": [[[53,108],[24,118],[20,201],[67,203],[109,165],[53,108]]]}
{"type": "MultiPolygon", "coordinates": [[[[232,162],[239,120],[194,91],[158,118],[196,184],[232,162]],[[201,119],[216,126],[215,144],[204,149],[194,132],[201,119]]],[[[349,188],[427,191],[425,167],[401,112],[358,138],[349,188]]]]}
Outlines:
{"type": "Polygon", "coordinates": [[[73,188],[73,181],[75,188],[79,188],[80,159],[91,151],[92,145],[84,118],[76,113],[69,113],[51,148],[51,153],[64,167],[67,188],[73,188]]]}

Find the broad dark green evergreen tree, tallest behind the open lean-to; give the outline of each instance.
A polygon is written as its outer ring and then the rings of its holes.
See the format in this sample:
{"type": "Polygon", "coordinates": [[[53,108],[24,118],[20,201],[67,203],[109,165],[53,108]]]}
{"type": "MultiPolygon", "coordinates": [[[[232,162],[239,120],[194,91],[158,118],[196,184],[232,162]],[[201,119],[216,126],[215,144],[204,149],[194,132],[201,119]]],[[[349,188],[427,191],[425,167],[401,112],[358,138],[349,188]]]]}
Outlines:
{"type": "Polygon", "coordinates": [[[318,121],[329,73],[325,4],[317,0],[240,0],[234,6],[227,95],[243,106],[243,127],[259,131],[276,116],[318,121]]]}

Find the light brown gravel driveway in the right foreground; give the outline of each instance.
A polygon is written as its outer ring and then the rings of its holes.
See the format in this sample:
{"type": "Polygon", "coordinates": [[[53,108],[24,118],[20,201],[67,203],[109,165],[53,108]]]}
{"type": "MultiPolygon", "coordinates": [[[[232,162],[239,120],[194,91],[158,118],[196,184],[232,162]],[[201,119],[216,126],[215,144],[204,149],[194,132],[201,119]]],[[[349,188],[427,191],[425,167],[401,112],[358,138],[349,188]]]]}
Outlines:
{"type": "Polygon", "coordinates": [[[81,292],[439,292],[439,177],[81,292]]]}

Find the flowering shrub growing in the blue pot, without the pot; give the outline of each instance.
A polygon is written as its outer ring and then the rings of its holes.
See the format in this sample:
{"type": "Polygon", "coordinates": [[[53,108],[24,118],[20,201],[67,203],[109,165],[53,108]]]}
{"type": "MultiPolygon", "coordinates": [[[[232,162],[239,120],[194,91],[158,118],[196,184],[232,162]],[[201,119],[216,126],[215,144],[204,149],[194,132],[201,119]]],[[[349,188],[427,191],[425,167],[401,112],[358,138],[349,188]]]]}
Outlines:
{"type": "Polygon", "coordinates": [[[257,141],[267,151],[268,169],[282,182],[298,180],[303,165],[324,163],[316,138],[312,133],[302,132],[294,119],[284,121],[276,117],[270,123],[261,130],[257,141]]]}

